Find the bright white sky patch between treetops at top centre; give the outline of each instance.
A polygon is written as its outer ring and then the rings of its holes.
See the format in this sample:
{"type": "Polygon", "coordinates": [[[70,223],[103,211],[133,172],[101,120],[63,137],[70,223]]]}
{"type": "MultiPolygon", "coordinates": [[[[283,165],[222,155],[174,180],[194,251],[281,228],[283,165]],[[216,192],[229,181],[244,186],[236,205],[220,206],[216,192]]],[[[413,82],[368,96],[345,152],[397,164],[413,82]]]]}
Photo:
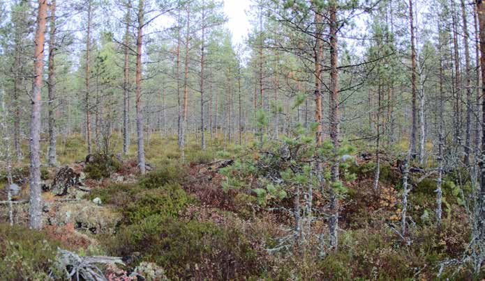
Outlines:
{"type": "Polygon", "coordinates": [[[251,0],[224,0],[224,13],[228,18],[225,26],[232,32],[232,43],[234,45],[243,44],[251,29],[251,24],[246,15],[250,5],[251,0]]]}

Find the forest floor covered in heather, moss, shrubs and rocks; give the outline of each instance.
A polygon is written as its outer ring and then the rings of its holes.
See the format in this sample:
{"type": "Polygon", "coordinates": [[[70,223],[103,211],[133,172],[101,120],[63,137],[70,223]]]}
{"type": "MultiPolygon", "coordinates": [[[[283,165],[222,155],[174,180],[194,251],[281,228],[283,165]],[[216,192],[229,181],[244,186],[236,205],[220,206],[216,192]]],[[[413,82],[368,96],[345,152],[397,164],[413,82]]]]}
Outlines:
{"type": "MultiPolygon", "coordinates": [[[[227,166],[239,165],[237,159],[248,154],[243,146],[225,146],[222,138],[216,138],[202,151],[191,136],[182,164],[176,136],[151,134],[146,156],[153,170],[142,176],[134,142],[121,159],[95,157],[89,163],[83,143],[81,136],[59,140],[60,166],[43,168],[45,186],[52,185],[64,166],[85,177],[80,186],[69,186],[62,195],[45,188],[43,231],[28,230],[28,204],[14,204],[14,227],[8,225],[7,206],[0,206],[0,244],[4,244],[0,279],[40,280],[52,275],[57,247],[81,256],[122,257],[124,266],[102,268],[109,280],[136,280],[128,277],[133,271],[147,280],[485,277],[483,270],[480,276],[472,275],[466,264],[441,268],[448,261],[459,261],[468,250],[470,220],[460,196],[469,186],[459,182],[460,173],[466,171],[445,177],[440,229],[434,219],[435,176],[412,173],[408,234],[403,239],[396,233],[402,190],[398,147],[381,159],[380,184],[374,191],[375,155],[366,145],[358,145],[357,163],[348,168],[356,177],[345,182],[348,191],[341,198],[338,249],[321,256],[326,218],[311,223],[303,243],[285,239],[294,227],[294,216],[285,211],[294,207],[292,198],[270,194],[261,198],[255,190],[262,179],[255,172],[237,184],[227,184],[227,172],[234,172],[227,166]]],[[[119,136],[112,151],[121,151],[119,136]]],[[[13,169],[15,181],[22,184],[17,202],[28,200],[28,170],[27,163],[13,169]]],[[[326,204],[318,191],[313,196],[316,207],[326,204]]]]}

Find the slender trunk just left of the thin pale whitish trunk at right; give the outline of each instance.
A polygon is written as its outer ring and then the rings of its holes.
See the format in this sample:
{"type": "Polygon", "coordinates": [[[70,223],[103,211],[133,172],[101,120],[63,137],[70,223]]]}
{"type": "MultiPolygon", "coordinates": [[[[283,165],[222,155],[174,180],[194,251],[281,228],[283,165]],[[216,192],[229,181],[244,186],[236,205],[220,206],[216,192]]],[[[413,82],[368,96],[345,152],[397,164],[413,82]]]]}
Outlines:
{"type": "Polygon", "coordinates": [[[412,127],[411,127],[411,155],[416,156],[416,138],[417,138],[417,108],[416,108],[416,47],[415,47],[415,20],[412,11],[412,0],[409,0],[409,17],[410,17],[410,31],[411,31],[411,95],[412,95],[412,127]]]}

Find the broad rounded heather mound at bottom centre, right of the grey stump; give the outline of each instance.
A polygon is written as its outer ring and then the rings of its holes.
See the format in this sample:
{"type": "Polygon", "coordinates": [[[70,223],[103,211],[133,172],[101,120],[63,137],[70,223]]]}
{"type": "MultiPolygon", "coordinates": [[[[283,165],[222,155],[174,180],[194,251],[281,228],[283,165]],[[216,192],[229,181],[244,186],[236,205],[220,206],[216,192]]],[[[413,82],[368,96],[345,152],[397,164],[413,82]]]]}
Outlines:
{"type": "Polygon", "coordinates": [[[174,280],[240,280],[262,272],[258,252],[240,232],[195,220],[150,216],[107,241],[112,255],[140,252],[174,280]]]}

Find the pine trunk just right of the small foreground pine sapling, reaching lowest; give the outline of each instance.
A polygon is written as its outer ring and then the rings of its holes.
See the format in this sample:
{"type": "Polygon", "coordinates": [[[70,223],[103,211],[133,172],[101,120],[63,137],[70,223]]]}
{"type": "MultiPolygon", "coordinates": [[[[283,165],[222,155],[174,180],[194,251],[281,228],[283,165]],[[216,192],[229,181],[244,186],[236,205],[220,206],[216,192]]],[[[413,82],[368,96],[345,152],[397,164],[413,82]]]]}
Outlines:
{"type": "MultiPolygon", "coordinates": [[[[331,182],[339,182],[338,170],[338,147],[339,143],[339,117],[338,117],[338,22],[337,22],[337,7],[336,3],[329,6],[329,26],[330,26],[330,138],[334,145],[334,159],[331,163],[331,182]]],[[[329,221],[329,235],[330,247],[336,250],[338,248],[338,195],[333,188],[329,188],[330,196],[330,221],[329,221]]]]}

